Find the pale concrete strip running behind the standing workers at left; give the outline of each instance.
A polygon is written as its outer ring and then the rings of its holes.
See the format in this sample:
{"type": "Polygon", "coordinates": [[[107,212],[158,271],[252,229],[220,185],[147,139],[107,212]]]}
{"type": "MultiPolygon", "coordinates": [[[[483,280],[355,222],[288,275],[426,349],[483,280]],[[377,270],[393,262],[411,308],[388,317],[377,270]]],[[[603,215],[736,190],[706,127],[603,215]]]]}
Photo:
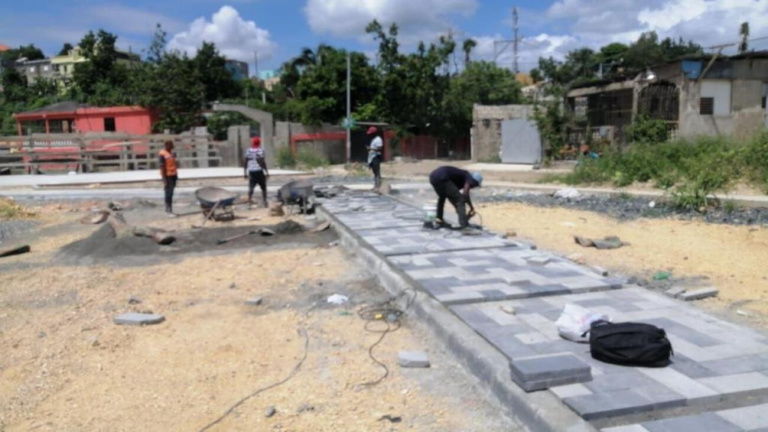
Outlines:
{"type": "MultiPolygon", "coordinates": [[[[279,169],[269,170],[269,173],[272,176],[305,174],[302,171],[279,169]]],[[[179,170],[179,178],[182,180],[242,177],[242,168],[186,168],[179,170]]],[[[0,188],[19,186],[77,186],[87,184],[138,183],[153,180],[160,180],[160,174],[157,170],[117,171],[72,175],[11,175],[0,176],[0,188]]]]}

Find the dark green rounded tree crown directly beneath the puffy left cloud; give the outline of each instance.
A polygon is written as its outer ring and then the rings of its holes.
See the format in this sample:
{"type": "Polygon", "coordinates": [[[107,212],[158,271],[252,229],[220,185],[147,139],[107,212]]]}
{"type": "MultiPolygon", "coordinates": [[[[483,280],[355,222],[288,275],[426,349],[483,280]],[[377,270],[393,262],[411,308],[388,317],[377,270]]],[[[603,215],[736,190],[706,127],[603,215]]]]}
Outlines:
{"type": "Polygon", "coordinates": [[[206,102],[213,102],[238,95],[237,83],[226,68],[226,59],[219,54],[216,45],[203,42],[192,60],[197,79],[204,87],[206,102]]]}

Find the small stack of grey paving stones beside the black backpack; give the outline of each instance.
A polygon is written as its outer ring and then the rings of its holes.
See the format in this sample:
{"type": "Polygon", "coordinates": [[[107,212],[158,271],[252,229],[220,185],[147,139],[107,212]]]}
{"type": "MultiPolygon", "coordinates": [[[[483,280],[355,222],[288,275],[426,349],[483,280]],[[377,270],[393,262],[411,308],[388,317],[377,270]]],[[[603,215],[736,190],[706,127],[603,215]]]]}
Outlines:
{"type": "Polygon", "coordinates": [[[515,358],[509,366],[512,379],[526,391],[592,379],[589,365],[573,354],[515,358]]]}

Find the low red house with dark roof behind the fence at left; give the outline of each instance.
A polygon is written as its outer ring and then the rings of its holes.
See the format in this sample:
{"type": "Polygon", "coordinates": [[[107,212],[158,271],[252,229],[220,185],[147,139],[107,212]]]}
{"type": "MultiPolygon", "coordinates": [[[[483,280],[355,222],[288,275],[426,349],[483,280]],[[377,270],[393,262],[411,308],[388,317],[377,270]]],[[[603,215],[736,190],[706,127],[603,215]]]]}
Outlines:
{"type": "Polygon", "coordinates": [[[59,102],[36,110],[14,114],[19,135],[35,133],[124,132],[145,135],[152,132],[154,115],[138,106],[91,107],[76,102],[59,102]]]}

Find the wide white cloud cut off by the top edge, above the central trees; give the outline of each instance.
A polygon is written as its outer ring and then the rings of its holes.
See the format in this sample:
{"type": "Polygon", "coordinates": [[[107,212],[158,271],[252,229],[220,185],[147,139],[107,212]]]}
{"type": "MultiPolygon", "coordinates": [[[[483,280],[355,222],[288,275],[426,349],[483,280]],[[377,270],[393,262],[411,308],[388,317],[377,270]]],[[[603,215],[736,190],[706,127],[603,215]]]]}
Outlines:
{"type": "Polygon", "coordinates": [[[308,0],[304,13],[314,32],[339,37],[365,37],[374,19],[397,23],[407,43],[444,33],[451,17],[471,16],[477,7],[478,0],[308,0]]]}

